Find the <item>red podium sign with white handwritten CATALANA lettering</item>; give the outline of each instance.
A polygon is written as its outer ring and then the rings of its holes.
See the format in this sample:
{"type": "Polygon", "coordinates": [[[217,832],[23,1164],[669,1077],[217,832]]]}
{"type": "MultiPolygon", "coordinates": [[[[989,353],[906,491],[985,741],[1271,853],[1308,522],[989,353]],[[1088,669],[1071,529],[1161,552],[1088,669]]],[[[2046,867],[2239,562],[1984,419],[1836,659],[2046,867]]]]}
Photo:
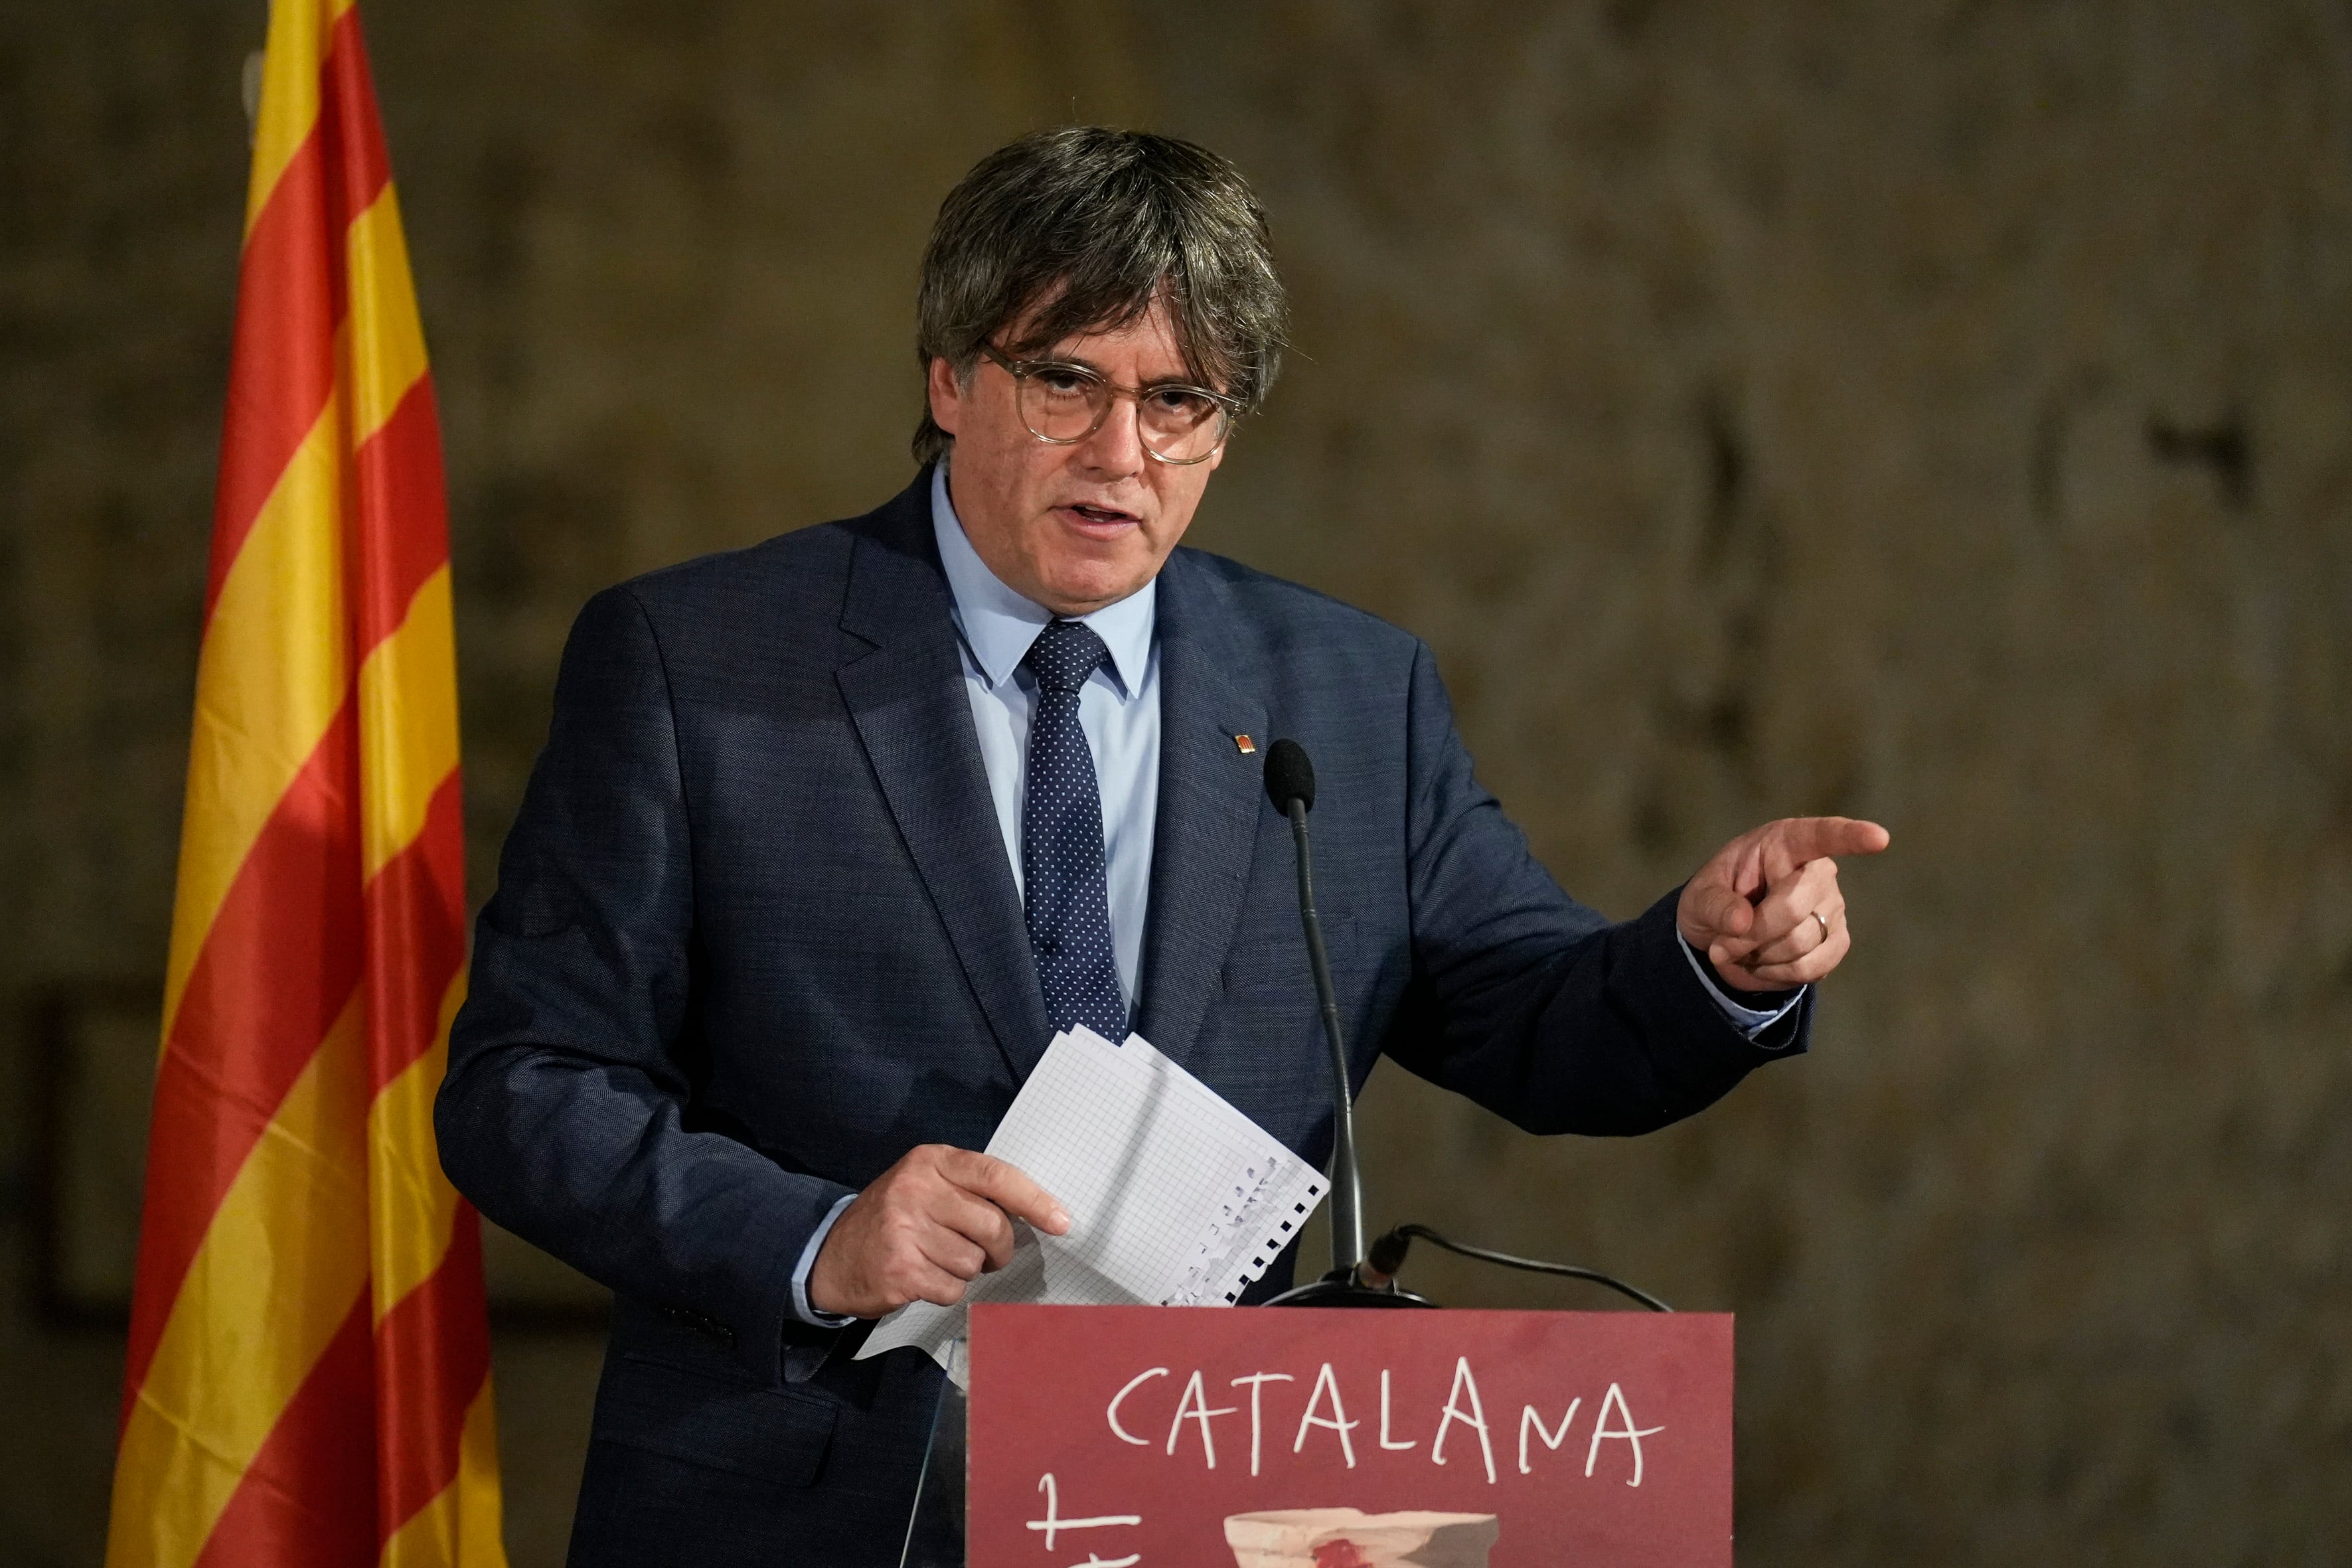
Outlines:
{"type": "Polygon", "coordinates": [[[1731,1316],[974,1307],[969,1568],[1729,1568],[1731,1316]]]}

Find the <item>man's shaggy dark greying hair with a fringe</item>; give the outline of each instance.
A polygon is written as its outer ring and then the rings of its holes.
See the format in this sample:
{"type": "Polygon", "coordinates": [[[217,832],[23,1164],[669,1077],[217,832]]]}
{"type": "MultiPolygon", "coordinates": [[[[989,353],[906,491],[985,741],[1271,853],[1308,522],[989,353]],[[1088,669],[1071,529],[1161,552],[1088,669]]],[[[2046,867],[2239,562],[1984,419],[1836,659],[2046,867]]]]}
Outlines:
{"type": "MultiPolygon", "coordinates": [[[[997,148],[948,193],[922,252],[915,357],[969,381],[990,341],[1021,322],[1014,357],[1082,331],[1115,331],[1167,301],[1185,374],[1242,411],[1282,367],[1289,308],[1265,212],[1242,172],[1209,148],[1070,125],[997,148]]],[[[955,437],[915,428],[915,461],[955,437]]]]}

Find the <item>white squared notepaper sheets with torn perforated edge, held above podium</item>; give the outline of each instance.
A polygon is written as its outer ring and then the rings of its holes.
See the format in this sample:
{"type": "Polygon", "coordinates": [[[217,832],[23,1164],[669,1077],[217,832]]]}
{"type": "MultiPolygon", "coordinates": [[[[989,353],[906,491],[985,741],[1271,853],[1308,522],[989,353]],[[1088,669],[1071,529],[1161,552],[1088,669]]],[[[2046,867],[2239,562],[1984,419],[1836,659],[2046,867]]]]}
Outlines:
{"type": "Polygon", "coordinates": [[[858,1356],[917,1345],[962,1382],[964,1307],[1228,1307],[1324,1197],[1324,1178],[1141,1034],[1056,1034],[988,1152],[1070,1211],[1065,1237],[1014,1225],[1014,1260],[955,1307],[908,1302],[858,1356]]]}

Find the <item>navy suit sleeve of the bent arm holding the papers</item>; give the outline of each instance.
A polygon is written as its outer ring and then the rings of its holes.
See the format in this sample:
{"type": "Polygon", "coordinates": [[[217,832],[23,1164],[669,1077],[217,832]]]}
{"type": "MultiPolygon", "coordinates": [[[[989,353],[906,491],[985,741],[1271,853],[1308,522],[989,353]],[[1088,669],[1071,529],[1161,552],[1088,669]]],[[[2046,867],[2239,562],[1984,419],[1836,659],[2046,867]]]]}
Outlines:
{"type": "Polygon", "coordinates": [[[774,1382],[793,1267],[847,1187],[694,1126],[691,832],[661,646],[614,588],[564,646],[435,1128],[449,1180],[485,1215],[731,1342],[774,1382]]]}

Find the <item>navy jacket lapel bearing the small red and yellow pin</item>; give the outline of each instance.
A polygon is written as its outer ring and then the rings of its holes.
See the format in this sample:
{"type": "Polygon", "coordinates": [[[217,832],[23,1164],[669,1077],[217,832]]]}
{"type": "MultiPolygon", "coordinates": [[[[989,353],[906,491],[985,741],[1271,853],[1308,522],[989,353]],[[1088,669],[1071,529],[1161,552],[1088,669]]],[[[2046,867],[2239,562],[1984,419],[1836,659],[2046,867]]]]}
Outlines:
{"type": "Polygon", "coordinates": [[[1244,691],[1235,609],[1176,552],[1160,574],[1160,820],[1136,1032],[1183,1060],[1216,994],[1265,799],[1265,703],[1244,691]],[[1251,736],[1261,755],[1244,755],[1251,736]]]}

